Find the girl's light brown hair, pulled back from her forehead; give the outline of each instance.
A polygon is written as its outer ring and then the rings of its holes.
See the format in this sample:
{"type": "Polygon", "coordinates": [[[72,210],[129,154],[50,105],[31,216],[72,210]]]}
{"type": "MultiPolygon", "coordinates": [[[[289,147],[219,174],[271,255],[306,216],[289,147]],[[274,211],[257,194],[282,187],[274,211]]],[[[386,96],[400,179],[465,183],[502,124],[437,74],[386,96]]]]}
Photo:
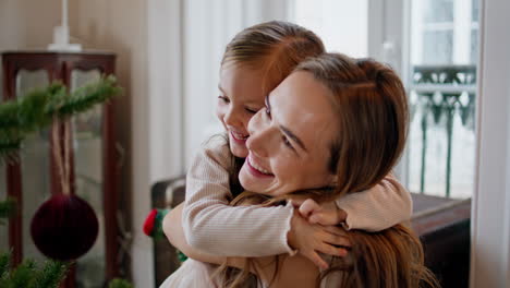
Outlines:
{"type": "MultiPolygon", "coordinates": [[[[263,71],[260,91],[264,95],[278,86],[299,63],[324,52],[324,44],[315,33],[290,22],[270,21],[238,33],[227,45],[221,68],[234,64],[263,71]]],[[[239,183],[243,164],[244,158],[232,157],[229,179],[233,195],[243,191],[239,183]]]]}

